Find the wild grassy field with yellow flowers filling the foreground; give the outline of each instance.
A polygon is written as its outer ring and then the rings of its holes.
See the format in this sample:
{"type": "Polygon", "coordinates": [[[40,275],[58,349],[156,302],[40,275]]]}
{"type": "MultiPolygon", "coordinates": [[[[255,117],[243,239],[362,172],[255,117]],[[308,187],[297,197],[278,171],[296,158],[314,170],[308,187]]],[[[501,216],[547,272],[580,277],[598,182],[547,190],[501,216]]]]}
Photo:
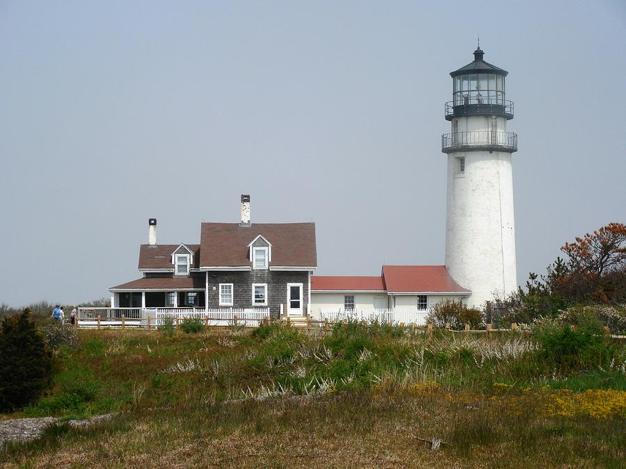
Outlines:
{"type": "Polygon", "coordinates": [[[79,331],[49,395],[0,418],[115,417],[10,443],[0,463],[623,467],[626,351],[602,347],[564,362],[520,334],[79,331]]]}

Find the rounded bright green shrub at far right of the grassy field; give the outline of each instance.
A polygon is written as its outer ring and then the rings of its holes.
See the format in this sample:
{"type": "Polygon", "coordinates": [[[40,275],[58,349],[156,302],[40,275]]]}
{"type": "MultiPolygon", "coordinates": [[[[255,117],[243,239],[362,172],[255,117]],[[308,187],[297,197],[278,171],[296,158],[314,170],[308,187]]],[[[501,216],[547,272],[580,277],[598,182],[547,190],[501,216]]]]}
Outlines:
{"type": "Polygon", "coordinates": [[[576,326],[545,320],[535,330],[539,354],[561,370],[608,365],[616,348],[604,334],[602,323],[588,311],[577,313],[576,326]]]}

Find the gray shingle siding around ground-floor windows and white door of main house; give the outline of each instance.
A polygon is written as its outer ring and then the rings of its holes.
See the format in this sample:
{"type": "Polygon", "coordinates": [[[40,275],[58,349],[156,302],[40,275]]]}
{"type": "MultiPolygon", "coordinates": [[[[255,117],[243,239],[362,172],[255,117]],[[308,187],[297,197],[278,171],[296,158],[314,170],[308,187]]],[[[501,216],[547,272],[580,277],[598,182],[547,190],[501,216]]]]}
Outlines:
{"type": "MultiPolygon", "coordinates": [[[[243,272],[209,272],[209,308],[220,308],[220,283],[232,283],[233,308],[251,308],[252,283],[267,283],[267,306],[278,318],[280,305],[287,308],[287,283],[302,283],[303,314],[309,302],[308,272],[275,272],[257,269],[243,272]]],[[[223,306],[221,306],[223,307],[223,306]]]]}

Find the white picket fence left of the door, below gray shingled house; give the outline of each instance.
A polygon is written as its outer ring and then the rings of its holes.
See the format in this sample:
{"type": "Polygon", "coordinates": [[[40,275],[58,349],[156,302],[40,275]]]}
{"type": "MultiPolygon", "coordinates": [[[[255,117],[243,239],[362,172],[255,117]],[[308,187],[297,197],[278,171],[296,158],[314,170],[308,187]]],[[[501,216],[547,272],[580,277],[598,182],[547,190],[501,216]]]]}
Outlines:
{"type": "Polygon", "coordinates": [[[269,308],[158,308],[155,312],[157,327],[162,326],[166,318],[172,320],[195,319],[202,320],[209,326],[230,326],[238,324],[241,326],[255,327],[264,320],[269,320],[269,308]],[[190,310],[190,311],[181,311],[190,310]]]}

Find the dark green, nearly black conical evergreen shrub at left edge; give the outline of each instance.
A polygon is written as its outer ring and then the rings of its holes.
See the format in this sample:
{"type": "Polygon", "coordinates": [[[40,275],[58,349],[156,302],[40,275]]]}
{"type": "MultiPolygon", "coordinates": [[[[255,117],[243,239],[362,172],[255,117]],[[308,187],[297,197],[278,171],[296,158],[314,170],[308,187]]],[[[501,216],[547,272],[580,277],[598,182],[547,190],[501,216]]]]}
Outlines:
{"type": "Polygon", "coordinates": [[[36,400],[49,387],[52,360],[29,310],[4,318],[0,334],[0,411],[13,411],[36,400]]]}

